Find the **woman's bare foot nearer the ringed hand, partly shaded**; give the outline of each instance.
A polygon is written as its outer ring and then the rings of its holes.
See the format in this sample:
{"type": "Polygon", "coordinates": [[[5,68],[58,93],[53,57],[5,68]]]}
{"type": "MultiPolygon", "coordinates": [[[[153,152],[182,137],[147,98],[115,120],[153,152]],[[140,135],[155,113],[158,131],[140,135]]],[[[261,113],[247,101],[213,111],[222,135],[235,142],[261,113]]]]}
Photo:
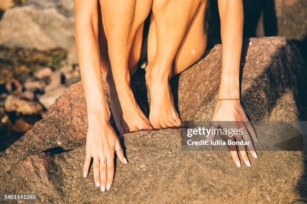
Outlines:
{"type": "Polygon", "coordinates": [[[107,74],[110,92],[110,105],[116,127],[120,134],[138,130],[152,130],[148,119],[135,101],[128,81],[115,85],[112,76],[107,74]]]}

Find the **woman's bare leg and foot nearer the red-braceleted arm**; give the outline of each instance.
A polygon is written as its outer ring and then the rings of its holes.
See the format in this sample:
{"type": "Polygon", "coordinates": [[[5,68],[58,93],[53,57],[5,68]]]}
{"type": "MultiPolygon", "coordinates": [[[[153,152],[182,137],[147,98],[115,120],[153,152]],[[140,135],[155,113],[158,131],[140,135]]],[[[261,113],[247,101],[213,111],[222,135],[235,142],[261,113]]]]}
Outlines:
{"type": "Polygon", "coordinates": [[[154,0],[148,34],[146,81],[150,90],[150,124],[156,128],[179,126],[169,79],[194,63],[206,48],[206,2],[154,0]]]}

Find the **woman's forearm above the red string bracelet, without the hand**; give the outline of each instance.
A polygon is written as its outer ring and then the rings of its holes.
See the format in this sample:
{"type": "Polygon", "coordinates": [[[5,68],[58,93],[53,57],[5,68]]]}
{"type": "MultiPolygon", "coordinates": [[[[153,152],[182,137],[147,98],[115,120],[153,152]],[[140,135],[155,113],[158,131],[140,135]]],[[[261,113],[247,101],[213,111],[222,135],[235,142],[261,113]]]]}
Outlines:
{"type": "Polygon", "coordinates": [[[219,98],[239,98],[240,57],[243,39],[242,0],[218,0],[223,47],[219,98]]]}

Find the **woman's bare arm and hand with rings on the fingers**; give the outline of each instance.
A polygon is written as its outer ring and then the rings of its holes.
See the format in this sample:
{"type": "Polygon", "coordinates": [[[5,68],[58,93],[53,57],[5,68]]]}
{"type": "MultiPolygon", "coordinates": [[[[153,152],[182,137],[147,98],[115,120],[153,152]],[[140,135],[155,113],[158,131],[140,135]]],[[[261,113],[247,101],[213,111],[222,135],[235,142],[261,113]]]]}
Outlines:
{"type": "MultiPolygon", "coordinates": [[[[97,0],[75,0],[75,39],[88,115],[83,176],[87,176],[93,157],[95,184],[104,191],[112,185],[114,151],[121,147],[109,123],[102,89],[97,3],[97,0]]],[[[122,151],[117,151],[117,156],[127,163],[122,151]]]]}

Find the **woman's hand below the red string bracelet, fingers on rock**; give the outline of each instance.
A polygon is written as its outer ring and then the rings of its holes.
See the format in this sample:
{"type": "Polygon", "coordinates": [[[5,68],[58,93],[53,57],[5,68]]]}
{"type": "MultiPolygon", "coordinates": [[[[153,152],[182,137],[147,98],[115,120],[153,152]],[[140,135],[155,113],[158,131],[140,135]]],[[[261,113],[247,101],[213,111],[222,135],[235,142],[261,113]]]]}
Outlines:
{"type": "MultiPolygon", "coordinates": [[[[253,155],[253,157],[257,158],[257,153],[250,138],[251,135],[253,141],[256,142],[256,132],[250,124],[246,116],[246,112],[240,103],[240,100],[219,100],[213,114],[212,123],[215,127],[237,129],[242,128],[242,135],[227,136],[227,139],[230,139],[232,141],[250,141],[250,144],[247,145],[247,148],[249,149],[249,152],[253,155]]],[[[214,136],[215,135],[210,135],[207,140],[213,139],[214,136]]],[[[245,150],[245,145],[239,145],[238,148],[244,163],[247,166],[250,166],[250,161],[245,150]]],[[[235,145],[229,145],[229,150],[233,161],[238,167],[240,167],[241,162],[237,153],[237,147],[235,145]]]]}

